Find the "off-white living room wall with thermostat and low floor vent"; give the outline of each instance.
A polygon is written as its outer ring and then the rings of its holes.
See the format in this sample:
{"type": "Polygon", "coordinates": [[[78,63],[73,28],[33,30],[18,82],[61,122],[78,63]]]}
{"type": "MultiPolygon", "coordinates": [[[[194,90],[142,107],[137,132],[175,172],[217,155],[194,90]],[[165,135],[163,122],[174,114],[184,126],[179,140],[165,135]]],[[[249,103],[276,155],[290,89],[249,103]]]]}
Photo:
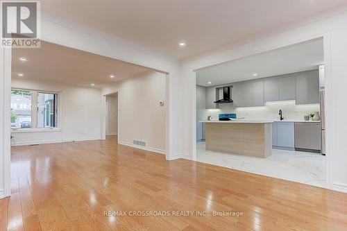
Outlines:
{"type": "Polygon", "coordinates": [[[148,150],[165,153],[165,82],[165,74],[155,73],[102,90],[103,95],[118,92],[119,144],[133,146],[137,139],[145,141],[148,150]]]}

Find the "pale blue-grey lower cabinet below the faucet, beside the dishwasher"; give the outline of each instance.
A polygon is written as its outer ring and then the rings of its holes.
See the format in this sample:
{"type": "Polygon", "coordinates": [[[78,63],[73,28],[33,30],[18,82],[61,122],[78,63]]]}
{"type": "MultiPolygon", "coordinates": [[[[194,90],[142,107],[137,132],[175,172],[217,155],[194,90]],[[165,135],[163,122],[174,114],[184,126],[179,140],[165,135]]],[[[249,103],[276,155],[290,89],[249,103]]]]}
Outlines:
{"type": "Polygon", "coordinates": [[[277,123],[277,146],[294,149],[294,123],[278,122],[277,123]]]}

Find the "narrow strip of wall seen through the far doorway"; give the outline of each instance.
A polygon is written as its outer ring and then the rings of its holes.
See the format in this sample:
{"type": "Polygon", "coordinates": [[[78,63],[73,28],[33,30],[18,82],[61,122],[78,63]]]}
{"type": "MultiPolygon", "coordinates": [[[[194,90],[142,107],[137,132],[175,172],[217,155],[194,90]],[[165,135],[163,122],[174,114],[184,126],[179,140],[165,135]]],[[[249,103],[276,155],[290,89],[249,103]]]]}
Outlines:
{"type": "Polygon", "coordinates": [[[107,102],[107,130],[106,135],[118,134],[118,96],[106,96],[107,102]]]}

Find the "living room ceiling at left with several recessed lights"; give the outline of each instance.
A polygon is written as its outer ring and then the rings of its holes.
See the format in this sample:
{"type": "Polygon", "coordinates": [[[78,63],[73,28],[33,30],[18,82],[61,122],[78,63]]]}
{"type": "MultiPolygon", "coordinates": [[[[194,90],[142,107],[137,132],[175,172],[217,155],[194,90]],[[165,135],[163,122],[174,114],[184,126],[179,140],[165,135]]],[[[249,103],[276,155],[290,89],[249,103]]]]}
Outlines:
{"type": "Polygon", "coordinates": [[[12,78],[48,80],[69,85],[105,87],[126,78],[135,78],[152,71],[49,42],[41,49],[12,49],[12,78]],[[19,60],[25,57],[26,62],[19,60]],[[24,74],[19,77],[17,74],[24,74]],[[110,78],[114,74],[115,78],[110,78]]]}

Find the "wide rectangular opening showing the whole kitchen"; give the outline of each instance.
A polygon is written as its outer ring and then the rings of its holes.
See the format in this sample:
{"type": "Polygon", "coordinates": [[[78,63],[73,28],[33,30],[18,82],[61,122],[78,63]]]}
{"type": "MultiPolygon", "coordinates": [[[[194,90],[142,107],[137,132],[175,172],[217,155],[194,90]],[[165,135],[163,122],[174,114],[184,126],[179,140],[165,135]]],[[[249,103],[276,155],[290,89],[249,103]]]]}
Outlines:
{"type": "Polygon", "coordinates": [[[196,160],[327,187],[324,95],[323,38],[196,70],[196,160]]]}

